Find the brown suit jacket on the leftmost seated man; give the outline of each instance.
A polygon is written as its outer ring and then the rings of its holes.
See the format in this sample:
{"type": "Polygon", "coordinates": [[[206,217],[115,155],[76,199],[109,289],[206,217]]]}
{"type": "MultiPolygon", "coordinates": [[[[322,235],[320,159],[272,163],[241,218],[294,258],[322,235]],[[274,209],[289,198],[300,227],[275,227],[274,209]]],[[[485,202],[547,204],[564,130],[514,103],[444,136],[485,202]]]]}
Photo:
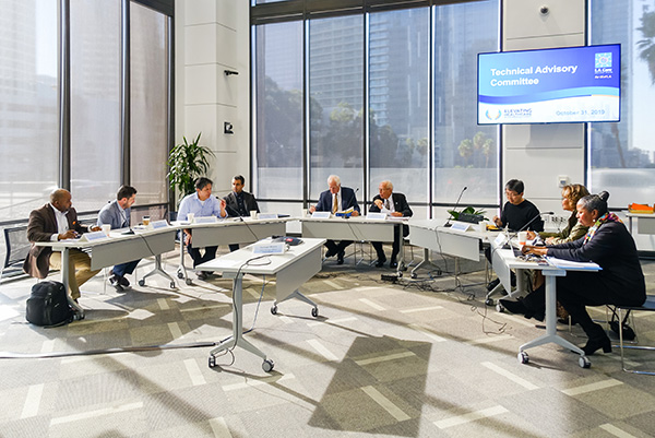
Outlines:
{"type": "MultiPolygon", "coordinates": [[[[69,223],[69,229],[82,234],[86,232],[86,227],[82,227],[78,222],[78,212],[71,208],[66,216],[69,223]]],[[[29,222],[27,223],[27,239],[32,242],[35,241],[49,241],[53,234],[57,234],[57,218],[50,204],[45,204],[38,210],[33,210],[29,213],[29,222]]],[[[31,276],[37,279],[45,279],[50,270],[50,254],[52,249],[50,247],[37,247],[32,245],[29,252],[23,263],[23,271],[31,276]]]]}

